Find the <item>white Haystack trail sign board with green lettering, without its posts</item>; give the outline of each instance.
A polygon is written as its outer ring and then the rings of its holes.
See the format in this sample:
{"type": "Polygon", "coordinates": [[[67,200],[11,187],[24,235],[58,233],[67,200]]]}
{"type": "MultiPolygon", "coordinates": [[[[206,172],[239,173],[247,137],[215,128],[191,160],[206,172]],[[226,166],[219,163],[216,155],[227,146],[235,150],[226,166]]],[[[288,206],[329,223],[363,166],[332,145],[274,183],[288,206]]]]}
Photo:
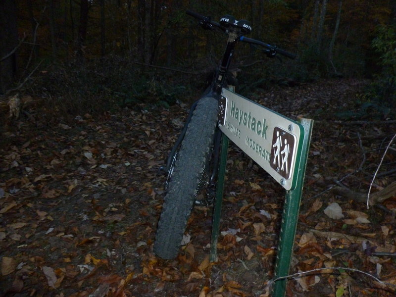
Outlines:
{"type": "Polygon", "coordinates": [[[227,89],[219,100],[220,130],[286,190],[296,186],[304,128],[227,89]]]}

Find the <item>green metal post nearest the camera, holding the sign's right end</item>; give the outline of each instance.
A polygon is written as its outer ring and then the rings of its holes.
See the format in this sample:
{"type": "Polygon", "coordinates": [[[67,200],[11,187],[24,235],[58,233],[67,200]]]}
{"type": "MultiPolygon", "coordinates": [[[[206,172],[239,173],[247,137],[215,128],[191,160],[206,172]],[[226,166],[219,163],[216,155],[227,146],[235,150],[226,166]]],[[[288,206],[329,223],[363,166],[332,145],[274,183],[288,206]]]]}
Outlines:
{"type": "MultiPolygon", "coordinates": [[[[278,245],[278,253],[275,263],[275,280],[289,275],[290,261],[292,258],[294,239],[296,236],[298,211],[300,207],[302,187],[305,177],[305,168],[308,158],[309,143],[311,140],[313,120],[299,119],[305,133],[299,156],[298,175],[296,188],[286,191],[285,205],[283,208],[281,234],[278,245]]],[[[298,156],[297,156],[298,157],[298,156]]],[[[297,164],[296,164],[297,165],[297,164]]],[[[285,297],[287,279],[275,281],[272,287],[272,297],[285,297]]]]}

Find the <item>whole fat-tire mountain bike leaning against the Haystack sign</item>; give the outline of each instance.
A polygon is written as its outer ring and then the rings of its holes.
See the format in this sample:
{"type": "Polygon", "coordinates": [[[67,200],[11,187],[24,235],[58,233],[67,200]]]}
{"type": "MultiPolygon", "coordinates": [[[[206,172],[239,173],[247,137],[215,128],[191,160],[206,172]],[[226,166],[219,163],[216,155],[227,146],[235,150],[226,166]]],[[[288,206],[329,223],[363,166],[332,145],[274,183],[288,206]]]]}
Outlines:
{"type": "Polygon", "coordinates": [[[191,107],[185,126],[172,148],[166,168],[166,195],[158,221],[154,253],[163,259],[177,256],[187,222],[195,204],[209,205],[216,192],[222,132],[217,128],[219,99],[238,42],[261,47],[269,57],[281,54],[294,59],[295,54],[245,37],[252,27],[247,20],[225,15],[220,22],[193,11],[186,13],[199,20],[206,30],[216,30],[227,36],[227,45],[208,92],[191,107]]]}

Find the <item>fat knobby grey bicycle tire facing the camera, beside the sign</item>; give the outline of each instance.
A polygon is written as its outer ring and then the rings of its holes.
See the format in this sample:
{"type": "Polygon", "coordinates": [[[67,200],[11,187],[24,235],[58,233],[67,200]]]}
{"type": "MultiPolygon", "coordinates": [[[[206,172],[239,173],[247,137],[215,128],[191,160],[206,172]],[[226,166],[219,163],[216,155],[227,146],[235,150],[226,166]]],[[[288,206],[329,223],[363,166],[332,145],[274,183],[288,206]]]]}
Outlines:
{"type": "Polygon", "coordinates": [[[154,241],[154,253],[163,259],[177,256],[194,201],[210,158],[217,123],[218,101],[200,99],[179,153],[162,205],[154,241]]]}

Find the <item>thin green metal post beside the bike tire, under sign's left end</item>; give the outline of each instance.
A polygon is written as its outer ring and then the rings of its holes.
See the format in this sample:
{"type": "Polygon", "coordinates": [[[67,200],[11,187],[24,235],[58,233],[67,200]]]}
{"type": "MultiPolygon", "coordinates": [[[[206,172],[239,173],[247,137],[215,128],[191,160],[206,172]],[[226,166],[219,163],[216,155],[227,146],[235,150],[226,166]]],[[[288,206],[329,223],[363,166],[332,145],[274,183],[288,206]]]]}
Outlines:
{"type": "Polygon", "coordinates": [[[216,197],[213,209],[212,242],[210,245],[210,261],[217,261],[217,240],[220,229],[221,202],[223,199],[224,177],[227,165],[228,137],[222,135],[219,174],[217,181],[216,197]]]}

